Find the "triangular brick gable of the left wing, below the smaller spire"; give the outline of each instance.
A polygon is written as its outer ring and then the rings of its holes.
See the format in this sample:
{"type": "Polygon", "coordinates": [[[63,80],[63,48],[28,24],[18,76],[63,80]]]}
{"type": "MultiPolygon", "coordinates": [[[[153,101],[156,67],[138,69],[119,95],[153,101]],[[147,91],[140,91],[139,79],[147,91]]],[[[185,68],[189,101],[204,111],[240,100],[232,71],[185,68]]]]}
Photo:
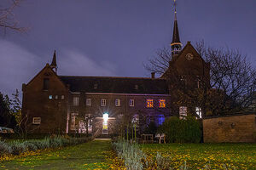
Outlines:
{"type": "Polygon", "coordinates": [[[45,65],[44,68],[26,84],[26,90],[34,92],[43,91],[44,79],[49,80],[49,91],[66,90],[65,84],[61,82],[60,78],[55,74],[55,71],[50,68],[49,64],[45,65]]]}

